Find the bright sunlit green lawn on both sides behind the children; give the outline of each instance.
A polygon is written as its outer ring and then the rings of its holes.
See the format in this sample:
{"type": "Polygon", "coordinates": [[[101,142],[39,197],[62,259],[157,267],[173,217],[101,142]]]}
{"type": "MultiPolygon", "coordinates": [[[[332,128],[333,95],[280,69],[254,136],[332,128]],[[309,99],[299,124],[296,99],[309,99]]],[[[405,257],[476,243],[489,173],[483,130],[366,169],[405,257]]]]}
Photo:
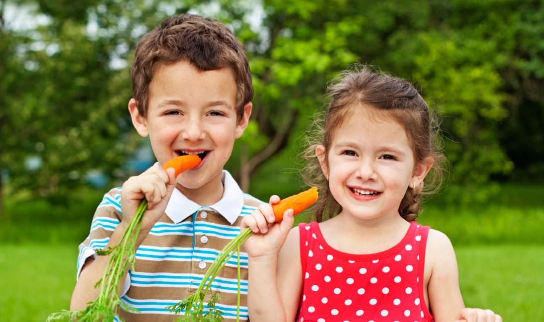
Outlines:
{"type": "MultiPolygon", "coordinates": [[[[461,246],[467,306],[489,307],[505,321],[543,321],[544,246],[461,246]]],[[[0,245],[2,321],[44,321],[67,308],[75,283],[76,245],[0,245]]]]}

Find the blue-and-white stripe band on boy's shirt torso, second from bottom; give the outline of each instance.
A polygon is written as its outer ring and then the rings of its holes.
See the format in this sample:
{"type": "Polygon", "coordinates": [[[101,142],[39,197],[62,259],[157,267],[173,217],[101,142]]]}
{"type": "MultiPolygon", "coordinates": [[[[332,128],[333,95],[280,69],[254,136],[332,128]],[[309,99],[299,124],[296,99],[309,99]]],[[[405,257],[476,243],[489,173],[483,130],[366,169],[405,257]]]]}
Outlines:
{"type": "MultiPolygon", "coordinates": [[[[198,288],[204,275],[168,272],[130,272],[131,285],[137,287],[186,287],[198,288]]],[[[238,279],[217,276],[212,281],[212,290],[223,293],[238,293],[238,279]]],[[[248,294],[248,281],[240,280],[240,293],[248,294]]]]}

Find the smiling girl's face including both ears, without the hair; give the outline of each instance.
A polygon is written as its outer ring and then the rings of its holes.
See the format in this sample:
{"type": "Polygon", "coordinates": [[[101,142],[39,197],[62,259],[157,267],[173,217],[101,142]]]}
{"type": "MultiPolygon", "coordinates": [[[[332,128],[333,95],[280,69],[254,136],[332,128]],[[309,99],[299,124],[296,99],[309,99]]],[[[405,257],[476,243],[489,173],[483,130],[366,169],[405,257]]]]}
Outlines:
{"type": "Polygon", "coordinates": [[[432,157],[416,165],[404,127],[373,107],[355,106],[335,130],[325,162],[323,145],[316,154],[343,213],[372,220],[398,216],[406,189],[421,185],[432,157]]]}

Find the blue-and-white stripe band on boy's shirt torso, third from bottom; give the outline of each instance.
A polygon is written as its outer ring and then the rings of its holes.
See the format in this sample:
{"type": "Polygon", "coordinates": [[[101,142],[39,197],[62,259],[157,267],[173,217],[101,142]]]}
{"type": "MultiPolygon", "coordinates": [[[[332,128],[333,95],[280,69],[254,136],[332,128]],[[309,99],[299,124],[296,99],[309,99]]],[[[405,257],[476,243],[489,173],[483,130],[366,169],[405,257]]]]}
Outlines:
{"type": "MultiPolygon", "coordinates": [[[[142,260],[172,260],[174,262],[193,262],[203,260],[212,263],[219,255],[219,250],[214,248],[201,247],[157,247],[140,246],[136,251],[136,258],[142,260]]],[[[231,259],[226,263],[227,266],[238,266],[238,253],[234,253],[231,259]]],[[[240,266],[248,268],[248,253],[240,252],[240,266]]]]}

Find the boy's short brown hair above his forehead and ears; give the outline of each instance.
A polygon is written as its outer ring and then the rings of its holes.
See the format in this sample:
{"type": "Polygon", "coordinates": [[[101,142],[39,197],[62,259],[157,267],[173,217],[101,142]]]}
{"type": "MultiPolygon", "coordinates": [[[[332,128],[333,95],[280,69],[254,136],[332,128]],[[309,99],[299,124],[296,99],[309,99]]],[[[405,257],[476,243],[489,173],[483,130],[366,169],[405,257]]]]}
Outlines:
{"type": "Polygon", "coordinates": [[[132,64],[132,95],[138,112],[147,114],[149,84],[159,64],[187,60],[198,70],[230,68],[237,85],[236,111],[253,99],[253,85],[243,45],[221,22],[196,15],[178,15],[163,21],[140,39],[132,64]]]}

